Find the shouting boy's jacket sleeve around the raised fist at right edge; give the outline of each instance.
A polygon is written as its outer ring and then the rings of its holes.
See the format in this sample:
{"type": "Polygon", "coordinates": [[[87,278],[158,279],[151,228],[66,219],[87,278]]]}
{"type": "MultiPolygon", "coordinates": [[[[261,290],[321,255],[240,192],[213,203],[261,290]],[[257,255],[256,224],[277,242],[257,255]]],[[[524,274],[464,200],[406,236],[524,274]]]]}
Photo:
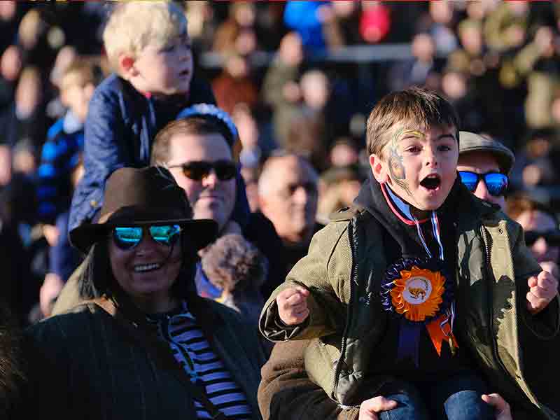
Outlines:
{"type": "Polygon", "coordinates": [[[556,337],[560,330],[559,296],[556,293],[556,297],[548,306],[536,315],[528,311],[526,307],[526,295],[529,290],[528,278],[537,276],[542,269],[525,245],[523,229],[516,223],[514,228],[510,229],[510,232],[515,283],[518,294],[521,297],[521,304],[519,306],[522,319],[535,338],[551,339],[556,337]]]}

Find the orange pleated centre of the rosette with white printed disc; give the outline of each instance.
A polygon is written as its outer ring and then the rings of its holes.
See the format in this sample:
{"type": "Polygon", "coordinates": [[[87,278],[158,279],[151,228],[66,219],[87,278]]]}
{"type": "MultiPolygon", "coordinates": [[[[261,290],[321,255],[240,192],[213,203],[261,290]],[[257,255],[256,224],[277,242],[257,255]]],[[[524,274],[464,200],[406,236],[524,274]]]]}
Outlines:
{"type": "Polygon", "coordinates": [[[424,321],[435,316],[443,302],[445,277],[440,272],[422,269],[413,265],[403,269],[400,279],[393,281],[391,301],[398,314],[409,321],[424,321]]]}

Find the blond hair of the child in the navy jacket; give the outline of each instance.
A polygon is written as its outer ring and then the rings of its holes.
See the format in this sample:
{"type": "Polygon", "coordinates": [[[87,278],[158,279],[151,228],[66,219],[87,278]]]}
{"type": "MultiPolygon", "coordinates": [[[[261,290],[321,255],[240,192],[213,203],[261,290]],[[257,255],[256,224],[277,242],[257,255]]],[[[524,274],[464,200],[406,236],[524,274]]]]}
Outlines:
{"type": "Polygon", "coordinates": [[[172,1],[124,1],[113,9],[103,42],[109,63],[119,72],[121,54],[135,59],[148,43],[164,48],[186,31],[186,15],[172,1]]]}

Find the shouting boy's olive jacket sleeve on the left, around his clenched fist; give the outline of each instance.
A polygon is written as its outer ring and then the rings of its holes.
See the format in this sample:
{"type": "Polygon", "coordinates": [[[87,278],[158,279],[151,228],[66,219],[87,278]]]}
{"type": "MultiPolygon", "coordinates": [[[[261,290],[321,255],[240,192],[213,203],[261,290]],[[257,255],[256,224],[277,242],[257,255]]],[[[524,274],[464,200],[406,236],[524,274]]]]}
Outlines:
{"type": "Polygon", "coordinates": [[[351,251],[348,223],[330,223],[311,240],[309,253],[294,265],[286,282],[269,297],[260,315],[259,328],[272,341],[309,339],[341,332],[349,302],[351,251]],[[300,325],[286,326],[279,319],[276,296],[286,288],[309,290],[309,316],[300,325]]]}

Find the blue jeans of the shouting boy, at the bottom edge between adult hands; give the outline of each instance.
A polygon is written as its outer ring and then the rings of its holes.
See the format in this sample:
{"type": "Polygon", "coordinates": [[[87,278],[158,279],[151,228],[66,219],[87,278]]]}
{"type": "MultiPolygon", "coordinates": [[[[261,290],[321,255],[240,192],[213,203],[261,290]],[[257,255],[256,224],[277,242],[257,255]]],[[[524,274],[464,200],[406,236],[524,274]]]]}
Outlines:
{"type": "Polygon", "coordinates": [[[440,381],[394,381],[379,391],[398,406],[379,413],[381,420],[493,420],[494,410],[480,396],[486,384],[472,374],[440,381]]]}

